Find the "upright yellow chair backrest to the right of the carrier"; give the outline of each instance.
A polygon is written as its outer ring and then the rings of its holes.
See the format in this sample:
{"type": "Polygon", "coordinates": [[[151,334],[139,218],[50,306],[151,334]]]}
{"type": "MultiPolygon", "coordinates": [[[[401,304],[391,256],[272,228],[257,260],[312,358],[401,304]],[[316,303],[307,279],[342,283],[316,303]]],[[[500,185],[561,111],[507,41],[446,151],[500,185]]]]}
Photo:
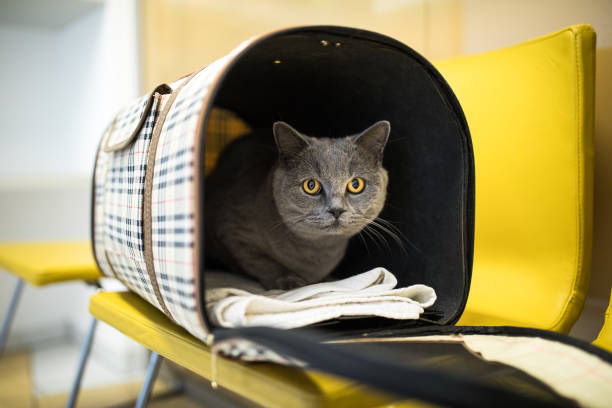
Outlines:
{"type": "Polygon", "coordinates": [[[460,325],[568,332],[588,288],[595,33],[577,25],[436,64],[476,166],[472,286],[460,325]]]}

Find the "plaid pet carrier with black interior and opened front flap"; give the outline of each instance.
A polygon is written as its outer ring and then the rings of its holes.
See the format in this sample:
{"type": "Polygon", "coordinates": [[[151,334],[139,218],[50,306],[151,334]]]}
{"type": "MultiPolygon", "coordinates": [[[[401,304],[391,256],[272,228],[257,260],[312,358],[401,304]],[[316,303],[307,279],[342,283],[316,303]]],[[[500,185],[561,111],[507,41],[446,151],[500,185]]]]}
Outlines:
{"type": "MultiPolygon", "coordinates": [[[[543,334],[452,326],[465,306],[472,270],[469,130],[438,71],[391,38],[343,27],[286,29],[250,39],[201,71],[156,87],[120,110],[106,129],[92,214],[102,272],[195,337],[214,342],[217,351],[308,365],[441,404],[573,404],[519,369],[474,362],[474,354],[448,341],[426,340],[543,334]],[[223,148],[251,128],[271,129],[277,120],[309,135],[331,136],[354,134],[383,119],[392,131],[382,217],[393,220],[409,245],[390,241],[388,247],[366,248],[353,239],[332,276],[382,266],[395,274],[398,286],[433,287],[436,304],[412,321],[360,318],[292,331],[213,327],[204,308],[205,175],[223,148]],[[414,336],[425,343],[409,341],[414,336]],[[378,341],[362,344],[366,337],[378,341]],[[335,342],[322,344],[330,340],[335,342]],[[385,347],[372,347],[380,344],[385,347]],[[443,355],[450,357],[439,364],[436,356],[443,355]],[[484,372],[496,373],[493,383],[480,378],[484,372]]],[[[564,342],[560,336],[553,340],[564,342]]],[[[610,363],[609,355],[596,354],[610,363]]]]}

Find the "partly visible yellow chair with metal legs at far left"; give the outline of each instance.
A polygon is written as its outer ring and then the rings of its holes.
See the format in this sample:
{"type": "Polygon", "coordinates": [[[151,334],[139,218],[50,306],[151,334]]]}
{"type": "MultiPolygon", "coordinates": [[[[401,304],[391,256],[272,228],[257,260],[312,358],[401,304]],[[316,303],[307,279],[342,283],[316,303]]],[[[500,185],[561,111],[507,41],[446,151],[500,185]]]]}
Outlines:
{"type": "MultiPolygon", "coordinates": [[[[102,277],[92,256],[91,244],[87,241],[0,244],[0,268],[19,278],[2,322],[0,355],[6,344],[24,282],[34,286],[45,286],[80,280],[99,287],[98,279],[102,277]]],[[[96,323],[97,320],[92,318],[81,350],[68,407],[74,406],[76,402],[96,323]]]]}

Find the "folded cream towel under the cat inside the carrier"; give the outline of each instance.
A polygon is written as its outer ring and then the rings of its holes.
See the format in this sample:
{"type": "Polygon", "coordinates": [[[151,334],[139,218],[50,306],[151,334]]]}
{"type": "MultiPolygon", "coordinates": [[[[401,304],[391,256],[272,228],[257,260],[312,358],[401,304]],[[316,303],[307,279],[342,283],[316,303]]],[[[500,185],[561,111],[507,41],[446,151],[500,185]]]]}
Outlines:
{"type": "Polygon", "coordinates": [[[291,329],[355,316],[418,319],[436,300],[429,286],[394,289],[397,279],[384,268],[289,291],[265,291],[229,273],[206,271],[205,276],[208,316],[222,327],[291,329]]]}

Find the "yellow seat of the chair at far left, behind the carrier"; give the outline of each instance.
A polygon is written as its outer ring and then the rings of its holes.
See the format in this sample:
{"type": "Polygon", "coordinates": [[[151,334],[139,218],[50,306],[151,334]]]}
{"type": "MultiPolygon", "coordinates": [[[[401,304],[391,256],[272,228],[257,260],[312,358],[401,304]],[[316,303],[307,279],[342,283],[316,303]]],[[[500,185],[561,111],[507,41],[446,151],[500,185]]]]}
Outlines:
{"type": "Polygon", "coordinates": [[[88,241],[0,244],[0,268],[35,286],[102,277],[88,241]]]}

